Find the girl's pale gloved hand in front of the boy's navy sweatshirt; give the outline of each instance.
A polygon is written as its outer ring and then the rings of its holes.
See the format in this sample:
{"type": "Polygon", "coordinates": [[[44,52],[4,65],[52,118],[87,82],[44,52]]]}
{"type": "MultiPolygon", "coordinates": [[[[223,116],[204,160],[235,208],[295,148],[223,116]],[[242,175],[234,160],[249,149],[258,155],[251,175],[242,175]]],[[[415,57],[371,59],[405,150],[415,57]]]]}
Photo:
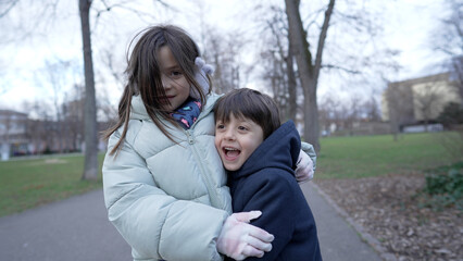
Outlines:
{"type": "Polygon", "coordinates": [[[261,211],[250,211],[228,216],[217,238],[217,251],[235,260],[243,260],[248,257],[262,258],[264,251],[272,250],[271,243],[275,237],[248,224],[261,214],[261,211]]]}

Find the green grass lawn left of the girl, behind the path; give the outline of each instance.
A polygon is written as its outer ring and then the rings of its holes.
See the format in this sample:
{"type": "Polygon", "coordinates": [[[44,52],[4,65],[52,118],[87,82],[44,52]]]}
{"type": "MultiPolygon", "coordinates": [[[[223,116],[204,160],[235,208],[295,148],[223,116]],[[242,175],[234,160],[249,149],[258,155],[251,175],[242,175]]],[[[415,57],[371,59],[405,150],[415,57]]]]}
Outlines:
{"type": "Polygon", "coordinates": [[[101,187],[80,181],[84,156],[47,157],[0,162],[0,216],[101,187]]]}

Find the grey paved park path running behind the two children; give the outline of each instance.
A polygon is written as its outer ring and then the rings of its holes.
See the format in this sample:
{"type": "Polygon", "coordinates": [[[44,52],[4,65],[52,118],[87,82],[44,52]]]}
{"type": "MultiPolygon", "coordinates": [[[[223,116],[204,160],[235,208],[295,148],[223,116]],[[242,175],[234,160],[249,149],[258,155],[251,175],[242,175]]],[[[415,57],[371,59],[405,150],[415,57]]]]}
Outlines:
{"type": "MultiPolygon", "coordinates": [[[[318,229],[325,261],[380,261],[333,201],[301,185],[318,229]]],[[[0,260],[127,261],[130,248],[110,224],[101,189],[0,217],[0,260]]]]}

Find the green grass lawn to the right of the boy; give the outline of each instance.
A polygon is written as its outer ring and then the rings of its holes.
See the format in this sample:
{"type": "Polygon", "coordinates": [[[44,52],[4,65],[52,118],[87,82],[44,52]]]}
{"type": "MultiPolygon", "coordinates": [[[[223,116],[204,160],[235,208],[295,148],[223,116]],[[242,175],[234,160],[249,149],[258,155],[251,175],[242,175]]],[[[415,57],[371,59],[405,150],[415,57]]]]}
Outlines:
{"type": "MultiPolygon", "coordinates": [[[[454,163],[454,152],[442,145],[451,133],[408,134],[393,141],[391,135],[328,137],[321,139],[316,178],[358,178],[386,174],[422,173],[454,163]]],[[[460,156],[460,159],[462,156],[460,156]]]]}

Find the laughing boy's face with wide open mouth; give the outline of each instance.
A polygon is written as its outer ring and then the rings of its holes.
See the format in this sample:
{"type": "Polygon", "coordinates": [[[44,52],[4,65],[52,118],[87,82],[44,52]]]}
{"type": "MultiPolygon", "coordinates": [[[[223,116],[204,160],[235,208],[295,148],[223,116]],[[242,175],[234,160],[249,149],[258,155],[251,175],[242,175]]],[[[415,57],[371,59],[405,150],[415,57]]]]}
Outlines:
{"type": "Polygon", "coordinates": [[[237,171],[264,140],[262,127],[249,119],[215,123],[215,148],[227,171],[237,171]]]}

